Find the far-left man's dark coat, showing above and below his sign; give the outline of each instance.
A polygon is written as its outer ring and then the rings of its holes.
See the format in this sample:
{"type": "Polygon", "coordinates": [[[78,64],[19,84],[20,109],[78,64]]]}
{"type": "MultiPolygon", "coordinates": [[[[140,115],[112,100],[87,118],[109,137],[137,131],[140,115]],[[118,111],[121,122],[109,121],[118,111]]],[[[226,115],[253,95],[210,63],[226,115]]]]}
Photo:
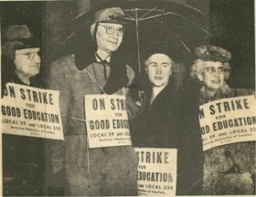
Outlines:
{"type": "MultiPolygon", "coordinates": [[[[14,70],[4,73],[8,74],[3,78],[2,90],[7,83],[27,85],[14,70]]],[[[30,86],[40,88],[42,84],[32,78],[30,86]]],[[[44,195],[44,164],[44,139],[3,134],[4,195],[44,195]],[[8,177],[15,178],[5,182],[8,177]]]]}

